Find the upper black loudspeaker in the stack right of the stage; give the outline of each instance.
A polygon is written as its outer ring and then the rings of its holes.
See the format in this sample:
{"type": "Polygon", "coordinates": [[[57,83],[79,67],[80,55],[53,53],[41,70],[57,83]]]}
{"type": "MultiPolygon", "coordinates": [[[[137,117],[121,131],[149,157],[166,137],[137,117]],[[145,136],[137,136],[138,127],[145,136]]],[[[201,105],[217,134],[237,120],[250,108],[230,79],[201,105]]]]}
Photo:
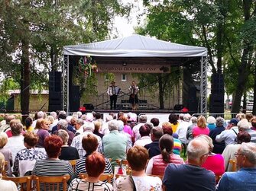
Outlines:
{"type": "Polygon", "coordinates": [[[212,94],[222,94],[224,93],[224,75],[222,74],[213,74],[212,79],[212,94]]]}

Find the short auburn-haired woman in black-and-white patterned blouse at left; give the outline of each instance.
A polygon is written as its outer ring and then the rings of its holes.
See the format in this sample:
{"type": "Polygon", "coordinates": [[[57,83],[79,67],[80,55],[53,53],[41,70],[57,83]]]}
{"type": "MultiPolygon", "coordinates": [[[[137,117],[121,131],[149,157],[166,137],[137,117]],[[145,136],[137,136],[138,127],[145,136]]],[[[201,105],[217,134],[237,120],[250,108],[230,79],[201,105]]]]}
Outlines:
{"type": "Polygon", "coordinates": [[[15,157],[15,164],[13,166],[13,173],[16,176],[19,176],[19,163],[20,161],[35,161],[38,159],[45,159],[47,155],[42,151],[38,151],[35,149],[35,145],[38,142],[38,135],[34,132],[26,132],[24,134],[24,146],[26,148],[18,151],[15,157]]]}

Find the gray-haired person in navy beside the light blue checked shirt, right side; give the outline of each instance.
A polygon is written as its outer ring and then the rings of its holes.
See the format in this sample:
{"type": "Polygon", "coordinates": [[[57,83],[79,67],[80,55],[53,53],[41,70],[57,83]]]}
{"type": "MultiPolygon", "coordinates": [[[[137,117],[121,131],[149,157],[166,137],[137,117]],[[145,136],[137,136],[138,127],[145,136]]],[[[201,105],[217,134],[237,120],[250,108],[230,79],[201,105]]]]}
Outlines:
{"type": "Polygon", "coordinates": [[[216,128],[212,129],[212,131],[209,133],[209,137],[212,138],[212,141],[213,141],[213,145],[214,145],[213,152],[214,153],[222,154],[222,152],[225,149],[225,141],[224,140],[222,142],[215,141],[216,136],[221,134],[221,132],[225,130],[224,123],[225,123],[225,119],[223,119],[221,116],[217,117],[216,128]]]}

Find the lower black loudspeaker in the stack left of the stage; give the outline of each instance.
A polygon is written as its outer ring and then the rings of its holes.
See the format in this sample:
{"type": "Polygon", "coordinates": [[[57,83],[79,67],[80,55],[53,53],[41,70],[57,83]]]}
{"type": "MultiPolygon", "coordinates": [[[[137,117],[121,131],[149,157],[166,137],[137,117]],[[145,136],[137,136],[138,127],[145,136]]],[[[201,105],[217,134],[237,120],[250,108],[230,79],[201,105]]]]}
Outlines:
{"type": "Polygon", "coordinates": [[[60,91],[49,91],[49,111],[62,110],[62,94],[60,91]]]}

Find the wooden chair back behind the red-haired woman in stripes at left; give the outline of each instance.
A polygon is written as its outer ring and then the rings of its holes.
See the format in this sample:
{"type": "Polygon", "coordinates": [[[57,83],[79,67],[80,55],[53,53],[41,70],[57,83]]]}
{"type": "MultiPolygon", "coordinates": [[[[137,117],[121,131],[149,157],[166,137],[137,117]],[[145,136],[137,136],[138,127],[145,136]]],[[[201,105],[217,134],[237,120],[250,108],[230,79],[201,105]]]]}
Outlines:
{"type": "Polygon", "coordinates": [[[67,181],[70,180],[70,175],[66,174],[57,177],[37,177],[34,176],[33,180],[36,181],[36,190],[49,190],[49,191],[60,191],[67,189],[67,181]]]}

